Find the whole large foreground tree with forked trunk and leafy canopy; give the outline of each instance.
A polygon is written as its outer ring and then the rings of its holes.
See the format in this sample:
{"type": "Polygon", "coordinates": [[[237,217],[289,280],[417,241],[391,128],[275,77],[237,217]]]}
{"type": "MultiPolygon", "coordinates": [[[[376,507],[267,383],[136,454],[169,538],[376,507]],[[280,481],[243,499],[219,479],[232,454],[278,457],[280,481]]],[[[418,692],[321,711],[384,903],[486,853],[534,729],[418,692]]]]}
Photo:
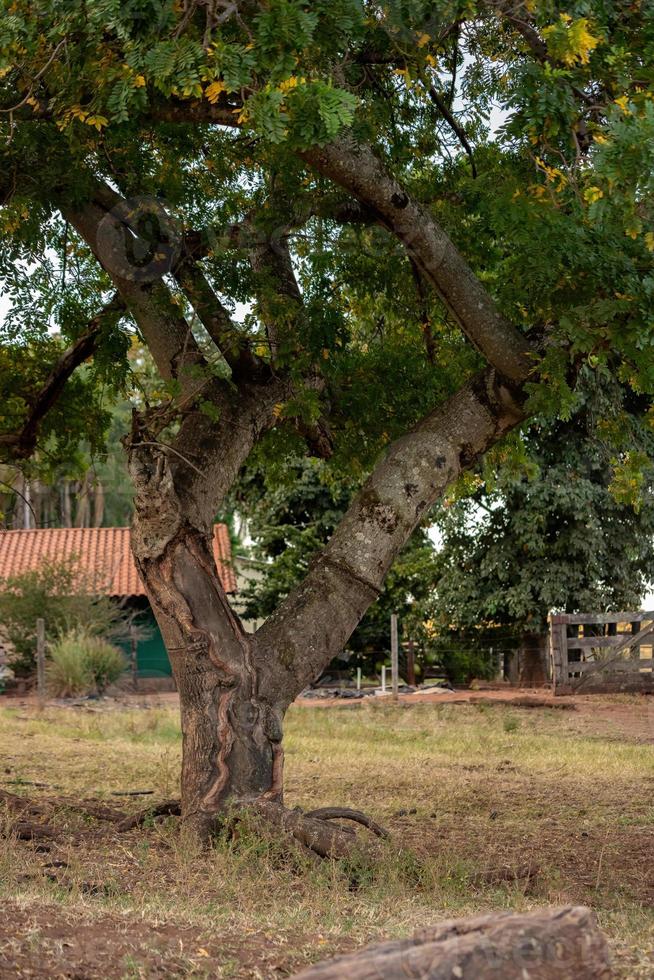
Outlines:
{"type": "Polygon", "coordinates": [[[99,440],[143,339],[160,385],[126,443],[132,547],[206,833],[230,801],[281,800],[288,705],[462,471],[568,412],[580,363],[651,391],[654,13],[3,7],[1,446],[99,440]],[[211,523],[253,449],[291,443],[364,482],[251,637],[211,523]]]}

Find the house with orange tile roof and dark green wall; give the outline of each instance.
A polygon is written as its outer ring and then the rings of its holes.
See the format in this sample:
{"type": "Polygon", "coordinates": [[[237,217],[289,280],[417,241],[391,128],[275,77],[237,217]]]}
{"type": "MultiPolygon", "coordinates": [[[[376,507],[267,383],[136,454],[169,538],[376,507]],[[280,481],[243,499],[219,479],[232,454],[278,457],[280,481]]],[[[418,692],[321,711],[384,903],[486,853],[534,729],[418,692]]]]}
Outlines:
{"type": "MultiPolygon", "coordinates": [[[[214,526],[213,552],[218,574],[228,594],[236,592],[229,531],[224,524],[214,526]]],[[[143,583],[132,557],[128,527],[37,528],[26,531],[0,531],[0,580],[38,568],[44,561],[75,558],[93,589],[111,596],[121,605],[138,612],[133,641],[121,646],[131,652],[136,646],[139,677],[171,678],[170,662],[143,583]]]]}

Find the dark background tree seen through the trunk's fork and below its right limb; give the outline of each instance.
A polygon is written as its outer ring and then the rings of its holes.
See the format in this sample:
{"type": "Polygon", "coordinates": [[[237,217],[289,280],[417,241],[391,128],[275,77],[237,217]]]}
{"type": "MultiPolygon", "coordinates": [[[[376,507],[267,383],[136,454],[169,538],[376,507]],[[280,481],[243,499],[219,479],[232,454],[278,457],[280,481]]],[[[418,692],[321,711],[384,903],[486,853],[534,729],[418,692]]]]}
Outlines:
{"type": "MultiPolygon", "coordinates": [[[[253,539],[252,557],[262,568],[243,592],[248,618],[270,616],[299,585],[347,511],[352,492],[351,481],[334,479],[319,459],[291,461],[281,478],[267,478],[265,470],[241,477],[237,507],[253,539]]],[[[435,576],[433,543],[424,528],[417,528],[349,638],[348,660],[354,657],[351,662],[370,673],[378,670],[390,653],[391,613],[399,616],[405,638],[421,634],[435,576]]]]}

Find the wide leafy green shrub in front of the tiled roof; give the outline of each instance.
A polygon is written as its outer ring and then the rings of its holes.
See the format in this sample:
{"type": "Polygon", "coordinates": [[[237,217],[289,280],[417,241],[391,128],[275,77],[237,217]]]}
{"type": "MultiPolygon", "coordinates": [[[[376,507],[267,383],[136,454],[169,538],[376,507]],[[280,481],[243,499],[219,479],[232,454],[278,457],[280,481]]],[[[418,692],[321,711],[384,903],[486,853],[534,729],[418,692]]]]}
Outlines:
{"type": "Polygon", "coordinates": [[[85,574],[74,557],[44,561],[0,585],[0,622],[14,649],[11,666],[19,676],[34,670],[38,618],[45,622],[49,643],[76,628],[94,636],[118,637],[124,631],[120,607],[98,591],[101,578],[85,574]]]}

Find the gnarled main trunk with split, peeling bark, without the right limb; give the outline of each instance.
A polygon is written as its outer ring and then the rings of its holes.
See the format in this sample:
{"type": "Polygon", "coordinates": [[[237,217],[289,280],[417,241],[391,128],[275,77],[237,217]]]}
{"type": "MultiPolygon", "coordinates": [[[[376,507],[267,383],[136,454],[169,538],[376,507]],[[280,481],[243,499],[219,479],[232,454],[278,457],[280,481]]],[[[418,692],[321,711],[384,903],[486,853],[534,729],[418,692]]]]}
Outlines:
{"type": "Polygon", "coordinates": [[[148,481],[132,468],[132,549],[179,691],[182,817],[204,837],[229,804],[281,802],[282,714],[265,699],[256,640],[227,601],[212,524],[193,526],[166,467],[148,481]]]}

